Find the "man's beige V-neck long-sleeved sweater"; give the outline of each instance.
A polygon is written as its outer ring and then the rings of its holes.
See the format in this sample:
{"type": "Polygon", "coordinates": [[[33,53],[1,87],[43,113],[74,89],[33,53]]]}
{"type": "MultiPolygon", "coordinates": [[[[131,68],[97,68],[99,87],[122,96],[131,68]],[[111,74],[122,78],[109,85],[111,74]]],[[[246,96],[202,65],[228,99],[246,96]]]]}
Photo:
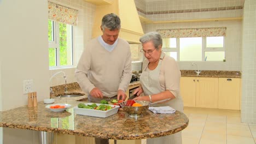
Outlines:
{"type": "Polygon", "coordinates": [[[118,38],[118,44],[109,52],[92,39],[75,70],[75,77],[84,92],[90,93],[95,87],[103,96],[113,97],[118,89],[126,92],[131,80],[131,51],[127,41],[118,38]]]}

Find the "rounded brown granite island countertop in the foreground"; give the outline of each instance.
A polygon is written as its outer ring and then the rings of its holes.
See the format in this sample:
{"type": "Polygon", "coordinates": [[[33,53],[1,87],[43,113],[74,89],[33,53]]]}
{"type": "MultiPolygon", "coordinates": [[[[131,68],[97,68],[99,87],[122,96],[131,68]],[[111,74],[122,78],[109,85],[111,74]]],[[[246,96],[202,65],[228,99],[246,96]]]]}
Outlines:
{"type": "MultiPolygon", "coordinates": [[[[56,98],[57,103],[68,103],[72,107],[86,96],[56,98]]],[[[142,118],[129,118],[127,113],[119,111],[107,118],[74,115],[74,110],[51,112],[43,102],[37,107],[18,107],[0,112],[0,127],[48,131],[53,133],[100,137],[103,139],[135,140],[166,136],[183,130],[189,119],[184,113],[157,114],[148,111],[142,118]],[[22,113],[22,114],[21,114],[22,113]]]]}

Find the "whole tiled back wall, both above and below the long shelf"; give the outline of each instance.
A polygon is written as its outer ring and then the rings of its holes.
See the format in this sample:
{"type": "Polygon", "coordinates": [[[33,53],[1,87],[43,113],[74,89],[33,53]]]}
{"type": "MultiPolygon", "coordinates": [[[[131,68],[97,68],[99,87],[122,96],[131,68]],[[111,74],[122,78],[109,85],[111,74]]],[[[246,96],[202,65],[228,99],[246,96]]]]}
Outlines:
{"type": "MultiPolygon", "coordinates": [[[[243,1],[160,1],[147,3],[146,11],[165,10],[193,10],[219,7],[239,7],[243,1]]],[[[139,6],[139,4],[138,4],[139,6]]],[[[143,7],[142,7],[143,8],[143,7]]],[[[242,9],[200,11],[191,13],[174,14],[148,14],[147,18],[153,21],[191,20],[191,19],[214,19],[220,17],[242,17],[242,9]]],[[[183,22],[183,23],[162,23],[148,24],[144,26],[144,33],[156,31],[157,29],[178,29],[178,28],[203,28],[203,27],[226,27],[225,50],[226,62],[196,62],[200,70],[234,70],[241,71],[241,50],[242,50],[242,21],[212,21],[212,22],[183,22]]],[[[178,62],[180,69],[196,69],[191,62],[178,62]]]]}

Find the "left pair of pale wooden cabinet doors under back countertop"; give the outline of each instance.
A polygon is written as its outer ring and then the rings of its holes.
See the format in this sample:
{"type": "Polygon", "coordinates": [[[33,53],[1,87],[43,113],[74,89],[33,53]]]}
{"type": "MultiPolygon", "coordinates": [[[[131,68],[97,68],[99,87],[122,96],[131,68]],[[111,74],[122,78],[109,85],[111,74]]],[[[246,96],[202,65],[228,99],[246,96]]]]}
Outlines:
{"type": "Polygon", "coordinates": [[[218,108],[218,78],[181,77],[184,106],[218,108]]]}

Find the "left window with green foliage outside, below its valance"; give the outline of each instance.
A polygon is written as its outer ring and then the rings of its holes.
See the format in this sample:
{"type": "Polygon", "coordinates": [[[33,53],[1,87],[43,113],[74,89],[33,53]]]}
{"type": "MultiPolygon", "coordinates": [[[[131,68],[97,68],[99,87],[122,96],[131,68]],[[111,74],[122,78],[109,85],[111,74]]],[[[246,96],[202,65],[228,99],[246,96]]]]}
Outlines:
{"type": "Polygon", "coordinates": [[[49,67],[73,65],[73,27],[48,20],[49,67]]]}

